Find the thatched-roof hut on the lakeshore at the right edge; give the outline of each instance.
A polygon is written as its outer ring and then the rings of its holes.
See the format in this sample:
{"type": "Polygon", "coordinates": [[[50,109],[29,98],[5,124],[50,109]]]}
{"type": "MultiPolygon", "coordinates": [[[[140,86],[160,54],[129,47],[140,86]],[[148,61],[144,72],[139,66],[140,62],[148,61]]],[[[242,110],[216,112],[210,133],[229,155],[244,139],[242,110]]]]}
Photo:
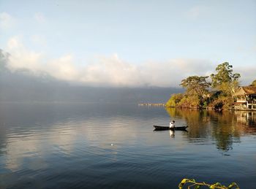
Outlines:
{"type": "Polygon", "coordinates": [[[256,110],[256,87],[244,86],[236,91],[235,109],[256,110]]]}

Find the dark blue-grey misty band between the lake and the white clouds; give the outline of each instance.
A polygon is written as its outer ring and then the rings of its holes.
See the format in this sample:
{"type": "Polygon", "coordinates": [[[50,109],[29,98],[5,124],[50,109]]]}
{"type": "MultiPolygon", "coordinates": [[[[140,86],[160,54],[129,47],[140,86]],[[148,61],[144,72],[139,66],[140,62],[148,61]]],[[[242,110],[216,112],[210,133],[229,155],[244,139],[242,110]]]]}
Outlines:
{"type": "Polygon", "coordinates": [[[13,71],[7,64],[8,55],[0,50],[0,101],[165,103],[171,93],[183,91],[181,88],[88,86],[57,80],[45,72],[13,71]]]}

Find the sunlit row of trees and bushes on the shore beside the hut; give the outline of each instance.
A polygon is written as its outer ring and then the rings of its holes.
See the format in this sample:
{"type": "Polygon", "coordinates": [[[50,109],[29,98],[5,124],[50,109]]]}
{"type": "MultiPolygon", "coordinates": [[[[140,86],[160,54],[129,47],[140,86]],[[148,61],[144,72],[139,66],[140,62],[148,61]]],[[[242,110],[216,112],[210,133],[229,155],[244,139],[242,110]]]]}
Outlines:
{"type": "MultiPolygon", "coordinates": [[[[196,109],[228,109],[236,99],[239,87],[238,73],[233,73],[233,66],[221,63],[215,69],[216,74],[209,76],[189,76],[181,80],[184,93],[173,94],[166,107],[187,107],[196,109]]],[[[252,82],[256,86],[256,80],[252,82]]]]}

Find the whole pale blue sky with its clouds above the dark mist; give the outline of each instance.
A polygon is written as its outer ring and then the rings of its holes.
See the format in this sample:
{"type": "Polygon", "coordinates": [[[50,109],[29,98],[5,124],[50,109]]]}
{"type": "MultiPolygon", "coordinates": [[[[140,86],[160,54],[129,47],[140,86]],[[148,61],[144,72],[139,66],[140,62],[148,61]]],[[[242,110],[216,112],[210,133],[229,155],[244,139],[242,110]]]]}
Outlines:
{"type": "Polygon", "coordinates": [[[11,70],[92,86],[178,87],[229,62],[256,79],[256,1],[0,1],[11,70]]]}

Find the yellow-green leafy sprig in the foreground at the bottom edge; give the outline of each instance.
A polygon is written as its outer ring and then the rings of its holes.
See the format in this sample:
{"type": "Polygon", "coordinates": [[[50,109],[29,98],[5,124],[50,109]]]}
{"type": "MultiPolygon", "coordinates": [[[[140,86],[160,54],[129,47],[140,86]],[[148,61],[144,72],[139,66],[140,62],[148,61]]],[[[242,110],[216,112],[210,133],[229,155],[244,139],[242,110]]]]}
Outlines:
{"type": "Polygon", "coordinates": [[[211,189],[239,189],[238,185],[236,184],[236,182],[232,182],[229,186],[225,186],[220,184],[219,182],[215,183],[215,184],[207,184],[206,182],[195,182],[195,180],[190,180],[190,179],[183,179],[181,180],[181,183],[179,183],[178,188],[182,189],[184,188],[184,186],[187,185],[187,188],[200,188],[201,186],[208,187],[211,189]]]}

